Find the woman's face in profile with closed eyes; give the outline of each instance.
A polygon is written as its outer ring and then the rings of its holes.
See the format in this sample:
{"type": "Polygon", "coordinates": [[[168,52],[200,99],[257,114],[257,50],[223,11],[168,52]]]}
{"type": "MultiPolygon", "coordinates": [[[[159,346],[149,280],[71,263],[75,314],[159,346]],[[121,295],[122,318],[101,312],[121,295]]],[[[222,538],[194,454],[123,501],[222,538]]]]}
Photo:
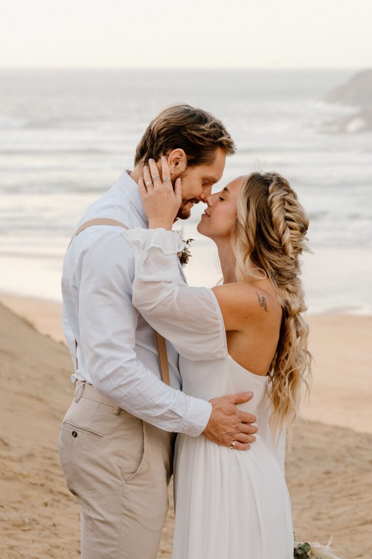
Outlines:
{"type": "Polygon", "coordinates": [[[223,190],[204,198],[207,208],[197,230],[214,241],[231,236],[236,222],[236,199],[246,177],[235,178],[223,190]]]}

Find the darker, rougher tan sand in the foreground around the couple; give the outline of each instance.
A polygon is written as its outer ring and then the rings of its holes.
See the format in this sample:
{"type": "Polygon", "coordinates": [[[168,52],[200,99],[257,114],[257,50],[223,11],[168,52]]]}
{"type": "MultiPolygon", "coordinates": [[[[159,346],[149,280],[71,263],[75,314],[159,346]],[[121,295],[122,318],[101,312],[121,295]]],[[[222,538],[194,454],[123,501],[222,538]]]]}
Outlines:
{"type": "MultiPolygon", "coordinates": [[[[64,344],[2,305],[0,331],[0,556],[74,559],[79,507],[65,487],[56,449],[73,395],[70,356],[64,344]]],[[[326,543],[333,534],[343,559],[370,557],[371,449],[371,434],[315,421],[297,424],[286,461],[297,539],[326,543]]],[[[159,557],[171,556],[171,537],[172,510],[159,557]]]]}

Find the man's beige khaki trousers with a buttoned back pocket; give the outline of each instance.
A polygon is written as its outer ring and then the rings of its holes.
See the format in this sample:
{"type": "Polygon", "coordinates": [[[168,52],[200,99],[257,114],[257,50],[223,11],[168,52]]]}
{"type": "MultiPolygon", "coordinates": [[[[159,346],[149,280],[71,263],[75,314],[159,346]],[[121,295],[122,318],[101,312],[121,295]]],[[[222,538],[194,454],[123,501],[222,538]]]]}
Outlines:
{"type": "Polygon", "coordinates": [[[156,558],[174,440],[76,382],[58,447],[67,487],[81,506],[82,559],[156,558]]]}

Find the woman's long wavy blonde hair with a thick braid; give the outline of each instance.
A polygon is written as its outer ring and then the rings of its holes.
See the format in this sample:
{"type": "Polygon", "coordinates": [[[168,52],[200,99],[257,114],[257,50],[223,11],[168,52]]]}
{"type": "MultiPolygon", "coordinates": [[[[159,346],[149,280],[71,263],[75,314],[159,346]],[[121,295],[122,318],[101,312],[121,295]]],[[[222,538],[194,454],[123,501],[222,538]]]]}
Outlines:
{"type": "Polygon", "coordinates": [[[308,218],[288,181],[277,173],[252,173],[241,186],[232,231],[236,281],[268,277],[282,306],[276,354],[269,369],[268,395],[272,434],[292,426],[298,416],[300,389],[310,390],[311,354],[307,350],[307,309],[299,256],[306,250],[308,218]]]}

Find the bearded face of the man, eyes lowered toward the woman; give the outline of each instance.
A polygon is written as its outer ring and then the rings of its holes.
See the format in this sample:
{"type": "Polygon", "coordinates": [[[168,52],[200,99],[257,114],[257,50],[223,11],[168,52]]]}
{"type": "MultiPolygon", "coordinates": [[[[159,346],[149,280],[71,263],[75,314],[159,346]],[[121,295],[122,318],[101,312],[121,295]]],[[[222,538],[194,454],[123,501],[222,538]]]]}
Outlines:
{"type": "Polygon", "coordinates": [[[222,148],[217,148],[215,158],[211,163],[186,167],[183,173],[180,173],[182,205],[178,210],[177,217],[188,219],[191,215],[192,206],[203,201],[205,196],[210,195],[212,186],[223,176],[225,163],[225,151],[222,148]]]}

